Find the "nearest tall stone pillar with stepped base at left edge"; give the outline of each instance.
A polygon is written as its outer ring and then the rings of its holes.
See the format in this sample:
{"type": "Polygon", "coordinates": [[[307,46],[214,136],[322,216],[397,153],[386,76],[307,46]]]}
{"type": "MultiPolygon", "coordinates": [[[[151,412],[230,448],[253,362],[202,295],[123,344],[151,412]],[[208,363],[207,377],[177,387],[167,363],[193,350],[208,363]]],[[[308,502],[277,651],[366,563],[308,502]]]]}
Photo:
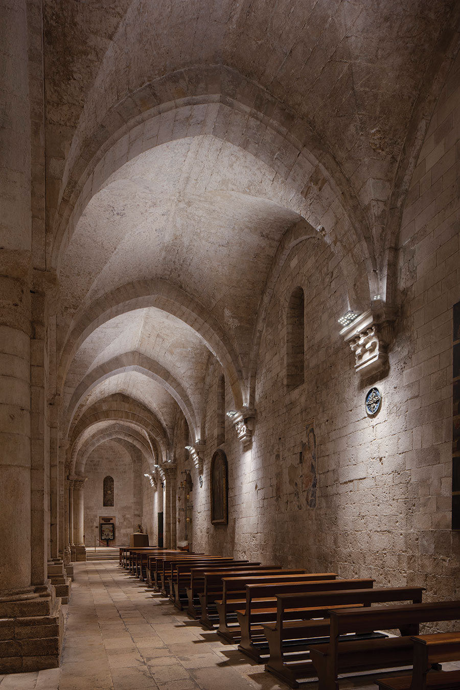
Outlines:
{"type": "MultiPolygon", "coordinates": [[[[37,401],[31,394],[34,353],[30,340],[33,286],[28,3],[0,0],[0,17],[1,676],[57,667],[63,615],[61,600],[55,597],[46,574],[48,554],[44,551],[41,578],[36,577],[36,571],[32,577],[35,515],[31,494],[34,482],[43,483],[43,474],[32,474],[35,448],[31,411],[37,414],[33,424],[43,424],[43,414],[34,408],[37,401]]],[[[41,40],[43,32],[39,30],[37,35],[41,40]]],[[[44,515],[43,502],[41,524],[44,515]]]]}

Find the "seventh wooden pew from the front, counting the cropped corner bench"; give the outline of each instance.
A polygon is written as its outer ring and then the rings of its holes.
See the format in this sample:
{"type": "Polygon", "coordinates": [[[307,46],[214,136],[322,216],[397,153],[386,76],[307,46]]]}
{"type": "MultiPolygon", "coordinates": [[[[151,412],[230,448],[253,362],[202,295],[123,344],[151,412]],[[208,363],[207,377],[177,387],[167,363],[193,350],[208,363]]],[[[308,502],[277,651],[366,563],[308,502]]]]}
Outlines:
{"type": "MultiPolygon", "coordinates": [[[[201,618],[201,603],[206,602],[205,608],[211,603],[214,604],[214,599],[222,596],[222,578],[231,577],[246,573],[248,575],[263,575],[281,571],[281,566],[265,566],[254,565],[247,563],[246,566],[232,566],[226,568],[221,566],[219,568],[192,568],[190,573],[190,586],[186,588],[188,598],[187,613],[192,618],[197,620],[201,618]]],[[[215,606],[214,606],[215,609],[215,606]]]]}

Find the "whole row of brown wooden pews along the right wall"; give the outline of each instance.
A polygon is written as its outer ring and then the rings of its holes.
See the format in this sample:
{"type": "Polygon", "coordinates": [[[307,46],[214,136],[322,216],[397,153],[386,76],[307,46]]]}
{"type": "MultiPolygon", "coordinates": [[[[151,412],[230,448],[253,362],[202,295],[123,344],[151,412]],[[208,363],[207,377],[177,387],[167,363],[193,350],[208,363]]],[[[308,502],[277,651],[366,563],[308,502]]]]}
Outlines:
{"type": "Polygon", "coordinates": [[[458,621],[460,601],[422,602],[423,587],[156,546],[121,548],[120,565],[292,688],[318,678],[319,690],[339,690],[339,674],[404,667],[377,686],[460,688],[460,671],[440,665],[460,660],[460,633],[419,635],[421,624],[458,621]]]}

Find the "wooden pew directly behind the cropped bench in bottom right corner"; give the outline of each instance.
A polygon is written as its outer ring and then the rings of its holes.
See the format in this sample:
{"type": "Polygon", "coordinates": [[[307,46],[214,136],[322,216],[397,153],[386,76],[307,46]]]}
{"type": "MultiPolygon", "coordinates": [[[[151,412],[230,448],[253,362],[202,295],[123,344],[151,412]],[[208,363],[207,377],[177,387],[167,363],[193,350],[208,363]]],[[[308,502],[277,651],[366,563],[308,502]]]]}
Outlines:
{"type": "MultiPolygon", "coordinates": [[[[310,644],[310,657],[319,678],[319,690],[339,690],[339,673],[412,665],[413,641],[420,623],[460,619],[460,601],[369,607],[358,611],[329,611],[330,640],[310,644]],[[346,633],[399,629],[401,637],[340,640],[346,633]]],[[[270,669],[268,669],[270,670],[270,669]]],[[[297,687],[292,685],[291,687],[297,687]]]]}

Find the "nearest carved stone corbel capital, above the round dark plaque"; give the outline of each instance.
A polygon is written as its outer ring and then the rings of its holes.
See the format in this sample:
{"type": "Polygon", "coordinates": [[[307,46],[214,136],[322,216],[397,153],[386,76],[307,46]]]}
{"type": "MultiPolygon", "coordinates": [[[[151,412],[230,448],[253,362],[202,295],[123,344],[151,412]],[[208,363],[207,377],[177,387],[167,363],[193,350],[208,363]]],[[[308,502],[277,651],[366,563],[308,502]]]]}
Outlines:
{"type": "Polygon", "coordinates": [[[355,358],[354,371],[361,378],[388,373],[388,349],[393,338],[395,319],[396,310],[379,303],[340,331],[340,335],[350,344],[355,358]]]}

